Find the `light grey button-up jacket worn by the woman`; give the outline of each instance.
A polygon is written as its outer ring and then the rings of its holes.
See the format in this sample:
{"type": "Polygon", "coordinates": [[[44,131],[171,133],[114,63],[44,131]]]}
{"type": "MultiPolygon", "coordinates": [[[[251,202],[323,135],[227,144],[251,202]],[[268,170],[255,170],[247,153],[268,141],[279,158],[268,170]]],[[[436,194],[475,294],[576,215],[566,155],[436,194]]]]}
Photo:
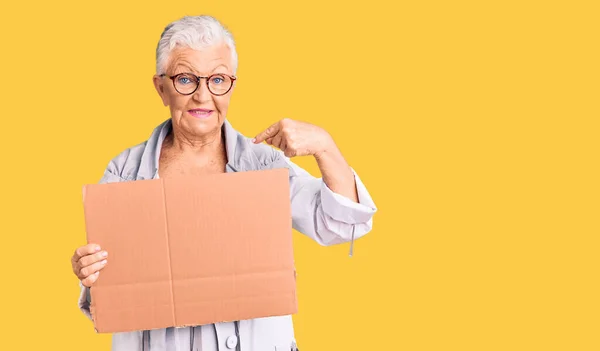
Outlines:
{"type": "MultiPolygon", "coordinates": [[[[117,155],[109,162],[100,183],[158,178],[161,145],[171,128],[171,119],[167,119],[154,129],[148,140],[117,155]]],[[[359,203],[334,193],[321,178],[313,177],[292,163],[281,151],[252,143],[227,120],[223,131],[227,172],[289,169],[292,227],[295,230],[324,246],[345,242],[352,242],[352,246],[355,239],[371,231],[377,208],[356,173],[359,203]]],[[[79,286],[79,308],[91,319],[89,289],[81,283],[79,286]]],[[[289,351],[295,344],[291,316],[114,333],[112,336],[113,351],[289,351]]]]}

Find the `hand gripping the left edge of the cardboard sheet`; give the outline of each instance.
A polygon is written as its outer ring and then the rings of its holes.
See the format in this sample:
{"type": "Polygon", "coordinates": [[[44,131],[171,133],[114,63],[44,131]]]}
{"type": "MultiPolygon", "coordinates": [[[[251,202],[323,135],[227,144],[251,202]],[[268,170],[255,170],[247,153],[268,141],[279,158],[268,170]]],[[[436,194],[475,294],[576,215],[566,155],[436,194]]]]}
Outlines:
{"type": "Polygon", "coordinates": [[[86,287],[91,287],[100,274],[100,270],[106,266],[108,252],[101,251],[97,244],[89,244],[78,247],[71,257],[73,273],[86,287]]]}

